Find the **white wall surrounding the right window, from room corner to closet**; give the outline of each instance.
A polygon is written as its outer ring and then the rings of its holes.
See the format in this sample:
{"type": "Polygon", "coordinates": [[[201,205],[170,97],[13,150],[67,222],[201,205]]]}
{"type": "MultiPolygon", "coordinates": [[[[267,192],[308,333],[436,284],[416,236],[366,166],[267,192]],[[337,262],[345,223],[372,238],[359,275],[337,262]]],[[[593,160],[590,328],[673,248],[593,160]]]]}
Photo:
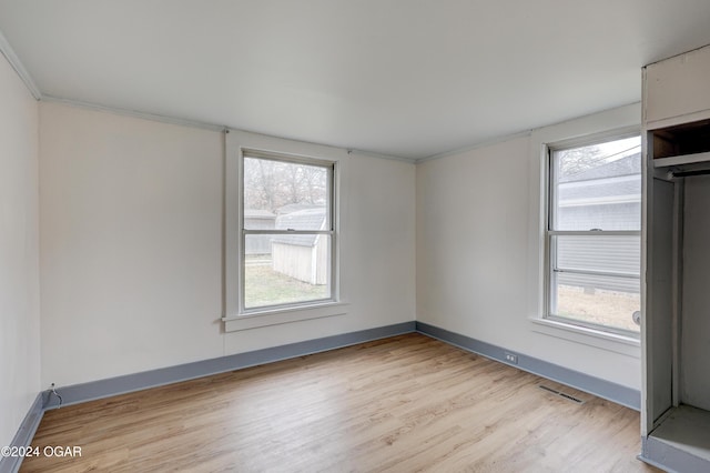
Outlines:
{"type": "Polygon", "coordinates": [[[639,389],[638,344],[535,322],[541,143],[639,123],[632,105],[417,165],[417,320],[639,389]]]}

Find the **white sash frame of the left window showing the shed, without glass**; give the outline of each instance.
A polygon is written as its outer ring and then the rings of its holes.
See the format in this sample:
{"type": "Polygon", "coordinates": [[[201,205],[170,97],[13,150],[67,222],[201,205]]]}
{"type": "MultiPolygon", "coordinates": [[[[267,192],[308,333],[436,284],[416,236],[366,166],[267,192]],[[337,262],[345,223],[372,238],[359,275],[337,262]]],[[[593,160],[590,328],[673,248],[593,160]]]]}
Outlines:
{"type": "Polygon", "coordinates": [[[241,148],[240,149],[240,162],[239,162],[239,181],[240,181],[240,199],[239,199],[239,232],[240,232],[240,245],[239,245],[239,263],[240,263],[240,286],[239,286],[239,314],[244,315],[253,315],[260,313],[273,313],[274,311],[284,311],[284,310],[297,310],[301,308],[312,308],[328,303],[335,303],[338,301],[338,291],[337,291],[337,248],[338,248],[338,238],[337,238],[337,201],[336,201],[336,174],[337,174],[337,162],[328,161],[324,159],[315,159],[303,155],[294,155],[286,153],[277,153],[273,151],[264,151],[260,149],[252,148],[241,148]],[[328,195],[328,204],[327,204],[327,221],[329,223],[327,230],[250,230],[246,229],[245,221],[245,209],[244,209],[244,192],[246,191],[246,187],[244,184],[244,161],[247,158],[253,159],[263,159],[275,162],[286,162],[292,164],[305,164],[317,168],[324,168],[327,170],[327,195],[328,195]],[[270,305],[260,305],[255,308],[247,308],[246,302],[246,236],[253,234],[284,234],[284,235],[296,235],[296,234],[326,234],[331,238],[329,241],[329,270],[328,270],[328,292],[329,296],[323,299],[313,299],[301,302],[292,302],[292,303],[281,303],[281,304],[270,304],[270,305]]]}

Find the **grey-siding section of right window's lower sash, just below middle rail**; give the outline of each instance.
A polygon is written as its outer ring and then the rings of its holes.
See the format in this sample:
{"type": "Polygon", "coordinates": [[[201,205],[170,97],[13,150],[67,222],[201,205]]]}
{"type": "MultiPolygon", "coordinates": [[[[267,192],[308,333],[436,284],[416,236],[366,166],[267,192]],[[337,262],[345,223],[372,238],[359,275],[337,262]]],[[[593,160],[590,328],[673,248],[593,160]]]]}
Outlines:
{"type": "MultiPolygon", "coordinates": [[[[551,238],[551,245],[556,249],[554,254],[557,256],[552,261],[554,269],[633,274],[637,279],[630,279],[623,288],[612,285],[609,289],[633,289],[638,292],[638,275],[641,266],[641,239],[639,236],[557,235],[551,238]]],[[[572,278],[572,274],[565,273],[564,278],[572,278]]],[[[613,284],[619,283],[615,282],[613,284]]]]}

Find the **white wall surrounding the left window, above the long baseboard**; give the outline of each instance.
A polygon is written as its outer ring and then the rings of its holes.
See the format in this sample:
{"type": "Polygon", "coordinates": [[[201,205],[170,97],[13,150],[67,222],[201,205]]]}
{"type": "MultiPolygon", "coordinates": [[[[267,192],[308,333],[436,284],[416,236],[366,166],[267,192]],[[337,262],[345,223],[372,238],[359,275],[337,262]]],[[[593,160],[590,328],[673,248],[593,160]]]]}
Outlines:
{"type": "Polygon", "coordinates": [[[49,102],[40,114],[43,383],[414,320],[414,164],[348,158],[347,315],[223,333],[222,134],[49,102]]]}

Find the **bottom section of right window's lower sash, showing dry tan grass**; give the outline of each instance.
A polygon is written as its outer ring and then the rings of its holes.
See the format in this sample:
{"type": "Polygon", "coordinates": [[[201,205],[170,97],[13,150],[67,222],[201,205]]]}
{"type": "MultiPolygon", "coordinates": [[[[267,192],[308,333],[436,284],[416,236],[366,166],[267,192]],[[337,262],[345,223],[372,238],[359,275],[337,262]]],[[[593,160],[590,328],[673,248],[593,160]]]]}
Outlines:
{"type": "MultiPolygon", "coordinates": [[[[605,276],[578,276],[574,280],[556,278],[552,286],[552,315],[605,325],[613,329],[639,332],[633,322],[633,312],[641,310],[638,291],[610,290],[623,288],[627,280],[605,276]]],[[[638,280],[636,281],[638,285],[638,280]]]]}

